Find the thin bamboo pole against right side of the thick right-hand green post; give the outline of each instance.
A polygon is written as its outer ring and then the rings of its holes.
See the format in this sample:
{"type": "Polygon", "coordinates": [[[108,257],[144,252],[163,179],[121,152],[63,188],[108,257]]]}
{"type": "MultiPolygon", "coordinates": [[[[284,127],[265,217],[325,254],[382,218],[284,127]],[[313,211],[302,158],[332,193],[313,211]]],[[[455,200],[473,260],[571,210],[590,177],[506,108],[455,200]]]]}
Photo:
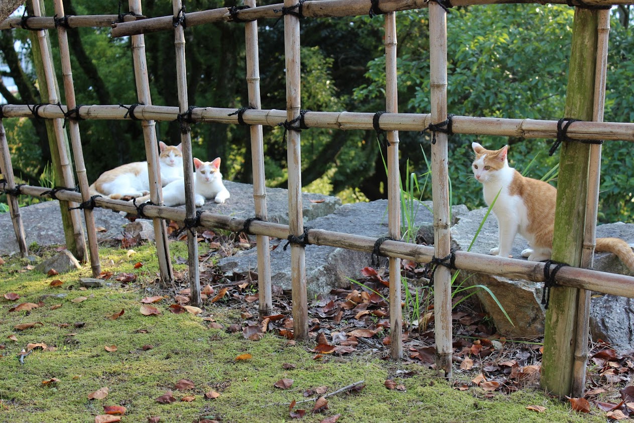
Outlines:
{"type": "MultiPolygon", "coordinates": [[[[607,74],[607,46],[610,33],[610,11],[598,11],[597,65],[592,120],[603,122],[605,107],[605,79],[607,74]]],[[[583,234],[581,267],[592,268],[596,245],[598,192],[601,176],[601,145],[590,145],[590,169],[588,171],[588,199],[586,200],[586,222],[583,234]]],[[[575,340],[572,396],[583,397],[586,385],[586,363],[588,361],[588,332],[590,320],[590,291],[579,290],[577,324],[579,330],[575,340]]]]}

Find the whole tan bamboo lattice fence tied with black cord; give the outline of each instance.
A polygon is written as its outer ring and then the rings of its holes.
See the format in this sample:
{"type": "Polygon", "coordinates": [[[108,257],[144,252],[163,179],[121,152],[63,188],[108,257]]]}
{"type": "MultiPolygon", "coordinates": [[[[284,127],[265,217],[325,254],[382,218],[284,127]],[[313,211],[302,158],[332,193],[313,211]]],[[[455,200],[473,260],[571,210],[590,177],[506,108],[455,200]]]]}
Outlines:
{"type": "MultiPolygon", "coordinates": [[[[269,259],[269,237],[289,238],[291,243],[292,262],[292,296],[294,335],[299,341],[308,340],[307,327],[307,299],[306,299],[306,268],[304,248],[306,244],[329,245],[342,247],[356,251],[373,252],[377,245],[376,238],[351,235],[335,231],[304,228],[301,204],[301,151],[299,126],[303,122],[306,127],[320,127],[330,129],[377,129],[374,124],[375,114],[358,112],[311,112],[305,116],[301,113],[301,68],[300,68],[300,20],[297,13],[292,13],[301,7],[301,15],[306,17],[325,16],[354,16],[367,15],[370,2],[368,0],[321,0],[306,1],[301,6],[293,3],[294,0],[285,0],[284,4],[256,6],[255,0],[247,0],[246,6],[241,10],[219,8],[215,10],[184,13],[180,0],[172,1],[173,16],[158,18],[145,18],[141,16],[140,0],[129,0],[131,13],[122,15],[95,15],[95,16],[65,16],[61,0],[55,0],[56,13],[63,16],[63,20],[51,17],[39,17],[39,1],[34,0],[36,16],[22,18],[9,18],[0,23],[0,29],[21,27],[37,31],[39,44],[42,51],[42,60],[48,85],[48,98],[53,104],[48,105],[5,105],[2,108],[2,117],[42,117],[53,120],[57,139],[58,151],[56,152],[63,165],[65,186],[73,186],[71,165],[68,160],[64,134],[61,127],[62,119],[67,118],[68,110],[75,108],[72,73],[70,72],[70,56],[68,55],[68,42],[65,37],[67,29],[94,26],[104,27],[112,25],[113,36],[132,35],[134,69],[139,102],[136,105],[134,117],[142,120],[143,133],[150,169],[151,195],[154,204],[147,205],[143,214],[153,218],[155,231],[158,229],[159,240],[157,244],[164,244],[163,258],[160,258],[161,274],[164,280],[171,280],[172,271],[169,263],[169,250],[165,234],[163,219],[189,221],[188,250],[190,263],[191,298],[193,303],[200,303],[200,283],[198,280],[197,242],[196,232],[193,226],[205,228],[222,228],[239,232],[247,230],[256,235],[258,247],[258,271],[259,271],[259,311],[263,317],[271,314],[271,270],[269,259]],[[283,6],[283,8],[281,8],[283,6]],[[280,14],[280,10],[283,10],[280,14]],[[290,11],[290,12],[289,12],[290,11]],[[259,95],[259,63],[257,56],[257,23],[262,18],[279,18],[284,20],[285,56],[287,69],[287,109],[266,110],[261,108],[259,95]],[[188,107],[186,93],[186,60],[184,51],[184,25],[174,25],[179,19],[186,19],[188,26],[202,25],[209,22],[245,22],[247,42],[247,85],[249,88],[249,110],[236,110],[235,108],[219,107],[188,107]],[[58,29],[60,39],[61,60],[63,76],[67,94],[67,106],[57,103],[55,92],[55,77],[50,49],[46,39],[46,32],[41,29],[58,29]],[[143,35],[146,32],[158,30],[174,30],[174,46],[176,49],[177,83],[179,93],[179,107],[154,106],[151,104],[148,77],[145,65],[145,42],[143,35]],[[301,117],[301,120],[299,120],[301,117]],[[162,205],[160,193],[160,173],[158,172],[157,146],[155,135],[155,122],[165,120],[179,120],[181,122],[181,141],[183,143],[184,176],[186,186],[186,209],[176,209],[162,205]],[[300,124],[297,123],[299,120],[300,124]],[[252,162],[254,167],[254,199],[256,204],[255,220],[238,219],[202,212],[196,214],[193,202],[193,166],[191,163],[191,122],[219,122],[224,124],[244,123],[250,126],[252,162]],[[288,210],[289,224],[279,225],[267,220],[266,189],[264,188],[264,166],[262,126],[285,125],[288,149],[288,210]],[[191,223],[195,221],[196,225],[191,223]],[[157,222],[160,227],[157,227],[157,222]]],[[[380,254],[389,257],[390,263],[390,322],[391,322],[391,356],[398,359],[403,354],[402,349],[402,311],[401,311],[401,283],[400,265],[401,259],[408,259],[418,263],[442,261],[446,264],[447,257],[453,254],[456,269],[473,272],[488,273],[507,278],[522,278],[533,282],[544,282],[544,270],[547,263],[534,263],[524,260],[509,259],[507,257],[486,256],[464,251],[450,251],[449,237],[449,202],[448,202],[448,136],[439,130],[447,119],[447,56],[446,56],[446,11],[436,2],[423,0],[410,0],[408,2],[398,0],[382,0],[378,7],[385,14],[385,55],[386,55],[386,112],[380,115],[378,129],[387,131],[387,166],[388,166],[388,204],[389,204],[389,236],[395,240],[384,240],[378,246],[380,254]],[[432,4],[429,4],[432,3],[432,4]],[[395,13],[400,10],[429,7],[430,25],[430,87],[432,89],[430,114],[403,114],[397,109],[396,90],[396,19],[395,13]],[[430,126],[432,125],[432,126],[430,126]],[[436,127],[434,127],[434,125],[436,127]],[[400,238],[400,212],[399,212],[399,171],[398,171],[398,131],[421,131],[430,128],[432,130],[432,185],[434,200],[434,247],[408,244],[399,242],[400,238]],[[435,129],[434,129],[435,128],[435,129]]],[[[454,0],[453,6],[466,4],[493,4],[493,3],[533,3],[524,0],[454,0]]],[[[556,0],[550,3],[566,3],[566,0],[556,0]]],[[[613,0],[585,0],[582,5],[628,4],[627,1],[613,0]]],[[[577,8],[578,9],[578,8],[577,8]]],[[[576,14],[579,10],[576,10],[576,14]]],[[[609,33],[609,11],[588,12],[582,14],[597,14],[600,16],[598,25],[599,41],[597,42],[597,59],[594,82],[594,107],[592,119],[594,122],[575,122],[569,128],[567,136],[572,139],[583,140],[627,140],[634,141],[634,124],[619,122],[602,122],[602,110],[605,96],[605,68],[607,58],[607,36],[609,33]]],[[[589,34],[589,33],[588,33],[589,34]]],[[[585,34],[588,36],[588,34],[585,34]]],[[[590,34],[592,38],[592,34],[590,34]]],[[[86,105],[77,108],[75,119],[131,119],[126,107],[118,105],[86,105]]],[[[0,120],[0,166],[5,175],[0,182],[0,189],[13,190],[15,181],[11,167],[11,158],[8,153],[6,136],[0,120]]],[[[451,130],[456,134],[486,134],[498,136],[514,136],[521,138],[555,138],[557,136],[557,122],[553,120],[534,119],[498,119],[488,117],[453,116],[451,130]]],[[[60,201],[70,204],[87,201],[87,180],[84,167],[81,140],[79,138],[79,125],[72,120],[69,125],[73,152],[75,156],[76,171],[79,179],[81,193],[61,191],[56,193],[60,201]]],[[[568,154],[566,148],[562,148],[562,159],[568,154]]],[[[600,174],[600,146],[590,148],[590,168],[587,199],[584,198],[588,208],[585,218],[585,240],[583,244],[583,265],[592,265],[592,252],[595,244],[594,231],[597,213],[598,178],[600,174]]],[[[583,185],[583,184],[582,184],[583,185]]],[[[47,188],[38,186],[21,186],[20,193],[27,195],[42,195],[47,188]]],[[[585,195],[585,194],[584,194],[585,195]]],[[[27,254],[25,237],[23,234],[20,212],[17,207],[15,195],[10,195],[10,212],[13,225],[20,244],[21,253],[27,254]]],[[[137,209],[129,202],[112,200],[110,198],[94,198],[96,207],[103,207],[114,211],[136,213],[137,209]]],[[[76,211],[75,211],[76,212],[76,211]]],[[[74,216],[74,237],[83,242],[81,225],[77,225],[77,213],[74,216]]],[[[92,211],[84,209],[84,218],[87,226],[93,218],[92,211]]],[[[89,232],[94,232],[94,221],[87,227],[89,232]]],[[[91,263],[93,273],[98,270],[98,256],[93,256],[94,234],[89,233],[89,245],[91,246],[91,263]]],[[[96,249],[95,249],[96,251],[96,249]]],[[[159,254],[159,255],[160,255],[159,254]]],[[[434,275],[434,311],[436,313],[436,355],[437,370],[444,372],[446,377],[451,377],[451,272],[443,265],[437,265],[434,275]]],[[[574,338],[574,364],[573,364],[573,390],[578,394],[583,391],[585,375],[585,362],[587,360],[587,318],[589,292],[594,290],[605,294],[624,297],[634,297],[634,277],[612,275],[586,268],[564,267],[557,273],[557,283],[563,287],[574,289],[576,304],[571,309],[578,309],[574,316],[576,319],[576,338],[574,338]],[[577,292],[576,290],[580,290],[577,292]]],[[[573,291],[570,291],[573,292],[573,291]]],[[[573,296],[573,297],[574,297],[573,296]]],[[[574,323],[573,323],[574,326],[574,323]]],[[[556,366],[553,366],[556,367],[556,366]]],[[[557,370],[553,370],[557,371],[557,370]]],[[[551,386],[545,386],[552,390],[551,386]]]]}

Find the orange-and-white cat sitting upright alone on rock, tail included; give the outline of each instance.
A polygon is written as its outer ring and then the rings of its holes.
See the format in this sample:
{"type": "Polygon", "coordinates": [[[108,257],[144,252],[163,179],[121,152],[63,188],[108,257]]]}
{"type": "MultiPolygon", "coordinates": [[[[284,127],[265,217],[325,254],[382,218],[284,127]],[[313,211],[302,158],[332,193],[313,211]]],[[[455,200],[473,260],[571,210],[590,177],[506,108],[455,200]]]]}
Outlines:
{"type": "MultiPolygon", "coordinates": [[[[493,205],[498,219],[498,247],[491,249],[494,256],[509,257],[515,235],[526,238],[529,248],[522,257],[530,261],[544,261],[552,256],[553,231],[555,229],[555,205],[557,188],[537,179],[522,176],[508,166],[508,145],[500,150],[486,150],[479,143],[472,143],[475,159],[472,171],[482,184],[484,201],[493,205]]],[[[597,238],[595,251],[616,254],[634,271],[634,252],[619,238],[597,238]]]]}

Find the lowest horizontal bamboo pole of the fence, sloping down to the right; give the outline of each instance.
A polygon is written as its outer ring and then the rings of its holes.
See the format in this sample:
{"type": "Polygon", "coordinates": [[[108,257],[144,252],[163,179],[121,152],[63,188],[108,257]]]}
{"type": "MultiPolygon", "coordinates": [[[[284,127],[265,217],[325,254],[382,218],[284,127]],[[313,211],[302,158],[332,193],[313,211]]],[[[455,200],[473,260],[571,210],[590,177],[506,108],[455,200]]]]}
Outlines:
{"type": "MultiPolygon", "coordinates": [[[[4,186],[5,183],[0,183],[0,190],[4,189],[4,186]]],[[[49,189],[41,186],[24,185],[20,187],[20,190],[23,194],[39,196],[49,189]]],[[[60,191],[56,193],[56,196],[61,200],[81,201],[81,194],[78,192],[60,191]]],[[[95,199],[95,203],[98,207],[104,209],[136,214],[136,207],[131,202],[100,197],[95,199]]],[[[148,218],[158,217],[176,221],[184,221],[185,219],[185,209],[176,207],[147,205],[144,207],[143,213],[148,218]]],[[[244,221],[245,219],[232,218],[210,212],[203,212],[200,216],[200,223],[205,228],[220,228],[233,232],[242,231],[244,221]]],[[[250,223],[249,230],[254,235],[264,235],[283,240],[288,237],[288,225],[280,225],[279,223],[256,220],[250,223]]],[[[308,241],[314,245],[328,245],[330,247],[372,253],[377,238],[311,229],[308,231],[308,241]]],[[[310,246],[307,248],[310,248],[310,246]]],[[[417,263],[428,263],[434,255],[434,247],[387,240],[381,244],[380,252],[386,257],[399,257],[417,263]]],[[[545,263],[542,262],[456,251],[455,264],[456,268],[461,270],[498,275],[506,278],[524,279],[532,282],[544,282],[545,263]]],[[[564,266],[557,272],[555,279],[559,285],[567,287],[634,298],[634,277],[630,276],[564,266]]]]}

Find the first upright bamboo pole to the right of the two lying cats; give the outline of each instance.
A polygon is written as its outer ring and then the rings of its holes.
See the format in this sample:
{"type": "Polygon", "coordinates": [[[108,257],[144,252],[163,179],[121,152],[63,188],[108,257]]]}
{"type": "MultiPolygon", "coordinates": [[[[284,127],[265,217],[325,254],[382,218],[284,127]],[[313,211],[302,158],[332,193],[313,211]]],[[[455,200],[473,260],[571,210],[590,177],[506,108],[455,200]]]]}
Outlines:
{"type": "MultiPolygon", "coordinates": [[[[246,0],[245,6],[256,7],[256,0],[246,0]]],[[[245,23],[247,42],[247,89],[249,106],[262,108],[260,99],[260,63],[257,47],[257,21],[245,23]]],[[[253,164],[253,199],[256,205],[256,218],[268,220],[266,210],[266,185],[264,181],[264,141],[262,125],[251,125],[251,160],[253,164]]],[[[260,318],[273,314],[271,293],[271,255],[269,237],[257,235],[257,291],[259,295],[260,318]]]]}

